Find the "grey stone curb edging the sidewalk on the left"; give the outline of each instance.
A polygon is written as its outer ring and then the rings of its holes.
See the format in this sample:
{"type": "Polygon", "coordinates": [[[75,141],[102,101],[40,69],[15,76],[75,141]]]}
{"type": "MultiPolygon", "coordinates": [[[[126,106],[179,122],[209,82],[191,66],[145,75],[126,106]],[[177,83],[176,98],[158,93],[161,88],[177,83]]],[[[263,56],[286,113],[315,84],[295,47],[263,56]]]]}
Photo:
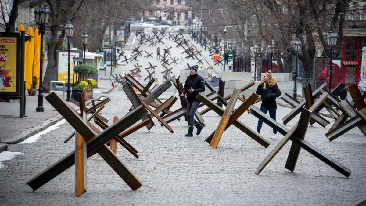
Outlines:
{"type": "MultiPolygon", "coordinates": [[[[98,95],[93,100],[99,100],[100,98],[102,98],[102,95],[98,95]]],[[[86,104],[90,104],[90,103],[91,103],[91,99],[88,100],[86,104]]],[[[23,131],[19,135],[11,137],[10,139],[3,140],[0,143],[0,152],[7,151],[7,147],[8,147],[7,144],[18,144],[19,142],[26,140],[28,137],[31,137],[31,136],[39,133],[39,132],[42,132],[43,130],[49,128],[50,126],[52,126],[54,124],[56,124],[57,122],[61,121],[62,119],[64,119],[64,118],[59,114],[56,117],[53,117],[51,119],[47,119],[46,121],[44,121],[40,125],[36,125],[36,126],[33,126],[31,128],[26,129],[25,131],[23,131]],[[4,146],[2,146],[3,144],[4,144],[4,146]]]]}

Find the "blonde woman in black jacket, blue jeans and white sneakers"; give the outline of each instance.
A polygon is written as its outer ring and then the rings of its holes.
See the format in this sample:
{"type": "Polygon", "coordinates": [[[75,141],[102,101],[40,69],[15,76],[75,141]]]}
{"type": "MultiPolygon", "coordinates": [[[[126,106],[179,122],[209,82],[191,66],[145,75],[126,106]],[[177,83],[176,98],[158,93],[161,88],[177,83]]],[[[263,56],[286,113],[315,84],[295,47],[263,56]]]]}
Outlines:
{"type": "MultiPolygon", "coordinates": [[[[272,76],[271,71],[264,73],[263,79],[261,83],[258,85],[257,91],[255,92],[257,95],[261,95],[262,104],[261,111],[267,114],[269,112],[269,116],[276,121],[276,98],[281,96],[281,91],[277,86],[276,78],[272,76]]],[[[257,133],[261,132],[263,121],[259,119],[257,126],[257,133]]],[[[277,139],[277,131],[273,129],[273,134],[271,139],[277,139]]]]}

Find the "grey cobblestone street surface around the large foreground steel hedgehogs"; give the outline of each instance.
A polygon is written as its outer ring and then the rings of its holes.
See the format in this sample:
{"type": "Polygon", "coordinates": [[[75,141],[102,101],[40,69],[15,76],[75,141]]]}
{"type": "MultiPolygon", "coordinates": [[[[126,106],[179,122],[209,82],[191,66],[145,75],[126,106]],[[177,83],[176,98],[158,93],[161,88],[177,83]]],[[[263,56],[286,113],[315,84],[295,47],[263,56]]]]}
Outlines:
{"type": "MultiPolygon", "coordinates": [[[[102,116],[121,118],[131,106],[124,92],[113,89],[102,116]]],[[[171,93],[164,93],[167,99],[171,93]]],[[[239,106],[239,102],[236,106],[239,106]]],[[[259,106],[257,104],[256,106],[259,106]]],[[[179,108],[176,102],[172,110],[179,108]]],[[[279,106],[281,122],[290,108],[279,106]]],[[[119,146],[117,156],[142,182],[132,191],[99,155],[87,161],[87,192],[74,195],[74,167],[69,168],[35,192],[26,181],[42,172],[74,148],[68,123],[43,135],[35,143],[10,145],[8,151],[22,152],[0,169],[1,205],[355,205],[366,199],[366,138],[355,128],[329,142],[327,128],[309,126],[305,140],[352,170],[349,178],[301,150],[295,172],[284,168],[287,143],[262,173],[255,175],[261,161],[282,138],[269,139],[272,129],[264,125],[261,135],[271,142],[268,148],[232,126],[217,149],[203,140],[217,127],[220,117],[212,111],[203,115],[206,127],[201,135],[184,137],[186,122],[173,121],[175,133],[156,126],[142,128],[125,139],[138,151],[134,158],[119,146]]],[[[255,129],[257,119],[247,112],[240,121],[255,129]]],[[[299,117],[292,120],[293,126],[299,117]]],[[[159,125],[154,119],[156,125],[159,125]]],[[[109,125],[111,122],[109,122],[109,125]]],[[[195,132],[195,131],[194,131],[195,132]]]]}

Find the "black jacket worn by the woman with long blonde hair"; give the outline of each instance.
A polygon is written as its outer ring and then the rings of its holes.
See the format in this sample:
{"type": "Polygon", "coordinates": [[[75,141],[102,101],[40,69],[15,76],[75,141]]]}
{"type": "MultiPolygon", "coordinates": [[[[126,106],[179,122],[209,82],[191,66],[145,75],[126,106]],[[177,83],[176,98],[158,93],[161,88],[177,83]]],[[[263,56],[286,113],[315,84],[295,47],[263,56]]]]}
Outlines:
{"type": "Polygon", "coordinates": [[[257,95],[261,95],[262,106],[267,108],[275,108],[277,107],[276,98],[281,96],[281,91],[277,84],[273,87],[269,87],[267,82],[265,82],[265,84],[267,84],[265,89],[263,89],[263,85],[259,84],[255,93],[257,93],[257,95]]]}

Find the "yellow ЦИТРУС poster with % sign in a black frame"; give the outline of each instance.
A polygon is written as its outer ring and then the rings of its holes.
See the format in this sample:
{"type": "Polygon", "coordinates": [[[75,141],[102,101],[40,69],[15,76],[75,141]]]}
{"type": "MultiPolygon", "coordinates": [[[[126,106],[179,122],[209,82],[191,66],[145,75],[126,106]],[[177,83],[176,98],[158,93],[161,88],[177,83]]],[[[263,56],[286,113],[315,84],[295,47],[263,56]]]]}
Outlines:
{"type": "Polygon", "coordinates": [[[16,92],[17,38],[0,36],[0,93],[16,92]]]}

